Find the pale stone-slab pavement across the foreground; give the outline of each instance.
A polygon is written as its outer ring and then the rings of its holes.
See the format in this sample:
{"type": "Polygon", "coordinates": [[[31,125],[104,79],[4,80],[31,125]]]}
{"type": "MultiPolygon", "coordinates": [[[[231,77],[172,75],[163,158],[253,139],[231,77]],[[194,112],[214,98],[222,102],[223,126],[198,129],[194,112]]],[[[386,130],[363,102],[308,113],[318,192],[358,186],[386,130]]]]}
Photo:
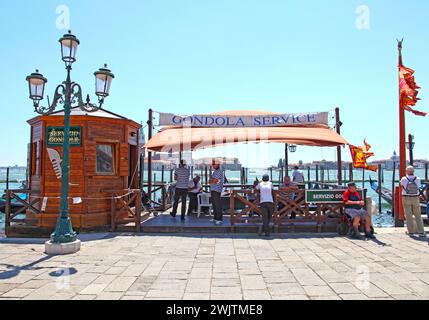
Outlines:
{"type": "Polygon", "coordinates": [[[429,299],[428,240],[82,235],[69,256],[0,239],[1,299],[429,299]]]}

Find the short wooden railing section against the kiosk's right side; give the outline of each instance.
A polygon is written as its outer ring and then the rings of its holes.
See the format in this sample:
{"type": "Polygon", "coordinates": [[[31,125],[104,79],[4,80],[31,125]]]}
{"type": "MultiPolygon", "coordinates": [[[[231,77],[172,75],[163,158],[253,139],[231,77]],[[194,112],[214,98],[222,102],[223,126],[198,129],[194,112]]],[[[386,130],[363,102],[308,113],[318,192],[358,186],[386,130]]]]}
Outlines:
{"type": "Polygon", "coordinates": [[[135,223],[136,232],[141,229],[142,192],[140,189],[105,191],[112,195],[111,200],[111,230],[117,230],[118,225],[135,223]]]}

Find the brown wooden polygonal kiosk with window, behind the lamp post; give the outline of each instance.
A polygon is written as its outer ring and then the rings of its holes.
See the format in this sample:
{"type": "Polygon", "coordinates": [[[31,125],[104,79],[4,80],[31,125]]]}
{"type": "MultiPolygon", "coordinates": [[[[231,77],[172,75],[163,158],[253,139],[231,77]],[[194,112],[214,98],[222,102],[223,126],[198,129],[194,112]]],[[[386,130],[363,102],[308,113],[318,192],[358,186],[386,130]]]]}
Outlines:
{"type": "MultiPolygon", "coordinates": [[[[53,230],[58,218],[63,115],[60,111],[28,121],[28,201],[36,203],[37,212],[27,210],[26,223],[38,228],[53,230]]],[[[87,113],[76,108],[70,123],[69,212],[73,227],[110,226],[113,197],[139,187],[141,125],[104,109],[87,113]]]]}

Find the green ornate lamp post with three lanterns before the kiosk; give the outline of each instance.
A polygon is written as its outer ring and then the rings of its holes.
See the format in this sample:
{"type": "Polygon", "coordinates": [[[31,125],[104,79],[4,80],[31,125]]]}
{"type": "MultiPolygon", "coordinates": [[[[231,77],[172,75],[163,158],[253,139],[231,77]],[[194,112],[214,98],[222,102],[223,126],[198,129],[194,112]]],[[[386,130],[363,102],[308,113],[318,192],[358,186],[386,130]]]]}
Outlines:
{"type": "MultiPolygon", "coordinates": [[[[104,65],[94,73],[95,76],[95,94],[98,97],[98,104],[93,104],[90,101],[89,95],[84,102],[82,98],[82,89],[79,84],[71,80],[72,65],[76,62],[76,52],[80,41],[74,36],[71,31],[65,34],[60,40],[62,60],[65,63],[67,71],[66,80],[57,86],[55,89],[54,99],[52,104],[49,101],[46,107],[41,105],[44,97],[45,85],[48,80],[36,72],[29,75],[26,80],[29,85],[30,99],[33,100],[35,112],[41,115],[52,113],[59,104],[64,106],[64,141],[62,154],[62,176],[61,176],[61,200],[60,214],[58,217],[55,231],[51,235],[50,243],[53,245],[70,244],[76,242],[76,232],[73,231],[72,223],[69,216],[69,153],[70,153],[70,113],[71,109],[78,107],[83,111],[95,112],[102,108],[104,99],[109,96],[110,86],[114,75],[104,65]]],[[[78,251],[79,249],[77,248],[78,251]]],[[[64,249],[54,250],[55,253],[65,253],[64,249]]]]}

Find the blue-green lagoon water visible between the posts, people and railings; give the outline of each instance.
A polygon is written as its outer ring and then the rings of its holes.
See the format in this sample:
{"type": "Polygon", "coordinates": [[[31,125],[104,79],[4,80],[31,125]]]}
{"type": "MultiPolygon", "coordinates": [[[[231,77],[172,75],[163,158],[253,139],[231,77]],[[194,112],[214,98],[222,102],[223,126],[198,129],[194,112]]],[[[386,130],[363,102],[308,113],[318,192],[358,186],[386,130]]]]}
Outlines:
{"type": "MultiPolygon", "coordinates": [[[[199,174],[200,171],[194,171],[194,174],[199,174]]],[[[249,183],[254,181],[256,178],[261,180],[262,175],[269,173],[266,169],[249,169],[249,183]]],[[[424,178],[424,170],[423,169],[417,169],[416,173],[421,178],[424,178]]],[[[147,172],[146,172],[147,174],[147,172]]],[[[155,171],[154,174],[156,175],[157,179],[160,179],[161,172],[155,171]]],[[[276,181],[279,178],[279,171],[273,171],[273,180],[276,181]]],[[[304,170],[304,175],[307,178],[307,171],[304,170]]],[[[365,172],[365,179],[369,179],[371,177],[374,180],[377,180],[377,173],[374,172],[365,172]]],[[[384,183],[383,185],[386,188],[391,189],[392,188],[392,171],[384,171],[384,183]]],[[[227,179],[230,180],[231,183],[237,183],[240,180],[240,172],[237,171],[227,171],[226,172],[227,179]]],[[[310,177],[311,180],[315,180],[316,172],[314,170],[310,171],[310,177]]],[[[319,173],[320,177],[320,173],[319,173]]],[[[353,177],[355,181],[361,181],[362,180],[362,170],[354,170],[353,171],[353,177]]],[[[147,177],[146,177],[147,178],[147,177]]],[[[19,180],[24,181],[25,180],[25,170],[22,169],[15,169],[11,168],[10,170],[10,179],[11,180],[19,180]]],[[[167,173],[165,175],[165,179],[169,179],[169,174],[167,173]]],[[[329,176],[328,173],[325,171],[325,181],[327,180],[335,180],[336,179],[336,171],[330,170],[329,176]]],[[[398,179],[398,177],[396,177],[398,179]]],[[[6,180],[6,170],[0,170],[0,180],[4,181],[6,180]]],[[[160,182],[159,180],[157,180],[160,182]]],[[[10,189],[19,189],[21,186],[20,183],[11,183],[9,185],[10,189]]],[[[378,195],[371,189],[369,183],[365,183],[365,188],[368,189],[368,196],[372,197],[373,200],[378,202],[378,195]]],[[[3,194],[4,190],[6,188],[5,183],[0,183],[0,195],[3,194]]],[[[160,197],[160,195],[157,195],[157,197],[160,197]]],[[[374,225],[377,227],[392,227],[393,226],[393,218],[390,214],[391,206],[387,204],[384,200],[382,201],[382,213],[380,215],[375,215],[373,217],[374,225]]],[[[4,229],[4,213],[0,213],[0,234],[2,233],[4,229]]]]}

